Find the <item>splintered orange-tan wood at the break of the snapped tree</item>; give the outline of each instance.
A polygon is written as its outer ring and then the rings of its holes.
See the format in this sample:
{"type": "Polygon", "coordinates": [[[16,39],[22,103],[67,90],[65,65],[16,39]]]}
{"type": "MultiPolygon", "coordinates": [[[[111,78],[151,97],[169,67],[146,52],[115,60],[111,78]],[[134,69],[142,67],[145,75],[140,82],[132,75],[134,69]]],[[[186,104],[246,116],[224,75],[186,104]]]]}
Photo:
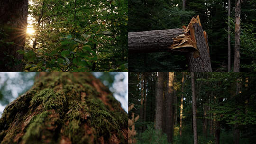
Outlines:
{"type": "MultiPolygon", "coordinates": [[[[193,53],[194,58],[200,55],[196,45],[195,30],[193,27],[194,23],[198,23],[201,26],[199,16],[193,17],[187,27],[185,26],[182,27],[184,34],[173,38],[174,43],[169,47],[170,49],[177,50],[177,51],[185,51],[182,48],[192,47],[195,50],[193,53]]],[[[206,41],[206,45],[208,47],[207,34],[205,31],[204,31],[204,38],[206,41]]],[[[209,53],[209,48],[208,48],[208,53],[209,53]]]]}

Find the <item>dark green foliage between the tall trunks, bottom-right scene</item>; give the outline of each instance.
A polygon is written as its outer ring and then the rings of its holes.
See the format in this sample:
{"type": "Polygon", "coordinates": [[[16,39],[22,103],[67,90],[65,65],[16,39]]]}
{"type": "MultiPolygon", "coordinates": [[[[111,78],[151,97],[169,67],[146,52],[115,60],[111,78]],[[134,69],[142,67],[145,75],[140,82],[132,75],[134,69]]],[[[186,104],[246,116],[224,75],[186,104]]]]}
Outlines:
{"type": "MultiPolygon", "coordinates": [[[[167,73],[165,73],[167,74],[167,73]]],[[[233,132],[236,125],[240,131],[239,144],[253,144],[256,141],[256,74],[245,72],[196,72],[195,91],[197,104],[198,144],[214,144],[215,130],[219,124],[220,144],[234,144],[233,132]],[[239,84],[239,86],[237,85],[239,84]],[[206,112],[206,115],[204,115],[206,112]],[[207,131],[204,132],[205,120],[207,131]]],[[[147,141],[154,132],[155,102],[157,87],[156,72],[130,72],[129,73],[129,104],[134,104],[131,111],[135,115],[146,113],[146,119],[140,116],[135,123],[137,140],[147,141]],[[142,74],[144,79],[142,79],[142,74]],[[146,112],[141,105],[141,84],[145,82],[146,112]]],[[[164,90],[166,90],[167,76],[164,77],[164,90]]],[[[173,107],[177,108],[177,121],[174,122],[173,144],[193,144],[192,126],[192,93],[190,73],[184,73],[184,91],[182,92],[182,73],[174,72],[174,97],[177,102],[173,107]],[[180,128],[180,106],[183,94],[182,136],[180,128]],[[175,125],[176,123],[176,125],[175,125]]],[[[165,98],[165,92],[164,97],[165,98]]],[[[164,100],[165,101],[165,100],[164,100]]],[[[166,107],[166,105],[164,105],[166,107]]],[[[165,117],[165,116],[164,116],[165,117]]],[[[165,119],[164,119],[165,121],[165,119]]],[[[163,128],[166,127],[164,122],[163,128]]],[[[165,132],[165,130],[164,130],[165,132]]],[[[143,143],[142,143],[143,144],[143,143]]],[[[157,144],[157,143],[154,143],[157,144]]]]}

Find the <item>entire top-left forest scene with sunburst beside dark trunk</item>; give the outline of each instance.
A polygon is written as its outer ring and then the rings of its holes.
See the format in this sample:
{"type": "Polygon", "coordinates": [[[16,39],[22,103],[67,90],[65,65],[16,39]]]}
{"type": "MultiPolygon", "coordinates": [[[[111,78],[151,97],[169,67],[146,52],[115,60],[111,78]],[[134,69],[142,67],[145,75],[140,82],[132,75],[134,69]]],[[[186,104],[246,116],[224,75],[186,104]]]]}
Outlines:
{"type": "Polygon", "coordinates": [[[1,72],[128,71],[128,0],[1,0],[1,72]]]}

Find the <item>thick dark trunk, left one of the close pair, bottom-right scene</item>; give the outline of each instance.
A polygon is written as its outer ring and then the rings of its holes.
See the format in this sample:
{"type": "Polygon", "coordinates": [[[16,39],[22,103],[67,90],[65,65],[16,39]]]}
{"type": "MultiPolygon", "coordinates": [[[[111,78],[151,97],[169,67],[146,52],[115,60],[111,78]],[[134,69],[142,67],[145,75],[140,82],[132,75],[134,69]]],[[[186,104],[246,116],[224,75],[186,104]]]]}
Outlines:
{"type": "Polygon", "coordinates": [[[156,91],[156,112],[155,112],[155,129],[163,130],[163,90],[164,90],[164,73],[158,72],[157,91],[156,91]]]}

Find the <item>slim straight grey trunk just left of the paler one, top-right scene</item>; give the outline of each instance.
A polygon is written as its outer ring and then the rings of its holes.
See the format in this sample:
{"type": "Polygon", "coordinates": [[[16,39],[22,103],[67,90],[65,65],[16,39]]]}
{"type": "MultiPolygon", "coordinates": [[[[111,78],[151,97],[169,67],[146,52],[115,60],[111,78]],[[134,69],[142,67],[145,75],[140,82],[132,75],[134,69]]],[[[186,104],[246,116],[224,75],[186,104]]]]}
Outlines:
{"type": "Polygon", "coordinates": [[[231,71],[231,58],[230,58],[230,55],[231,55],[231,48],[230,48],[230,9],[231,9],[231,6],[230,6],[230,0],[229,0],[229,11],[228,11],[228,72],[231,71]]]}

